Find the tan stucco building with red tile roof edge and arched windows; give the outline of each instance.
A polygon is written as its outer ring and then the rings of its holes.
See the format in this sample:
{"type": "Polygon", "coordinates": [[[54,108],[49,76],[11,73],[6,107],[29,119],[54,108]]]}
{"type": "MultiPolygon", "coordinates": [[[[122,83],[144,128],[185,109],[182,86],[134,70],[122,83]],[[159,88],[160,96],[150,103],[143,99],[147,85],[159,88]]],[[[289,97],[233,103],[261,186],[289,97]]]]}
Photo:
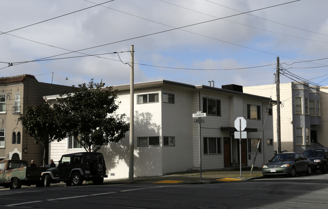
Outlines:
{"type": "Polygon", "coordinates": [[[41,83],[33,75],[0,77],[0,160],[23,159],[36,165],[43,164],[43,150],[25,133],[18,121],[27,106],[41,105],[43,95],[61,94],[72,87],[41,83]]]}

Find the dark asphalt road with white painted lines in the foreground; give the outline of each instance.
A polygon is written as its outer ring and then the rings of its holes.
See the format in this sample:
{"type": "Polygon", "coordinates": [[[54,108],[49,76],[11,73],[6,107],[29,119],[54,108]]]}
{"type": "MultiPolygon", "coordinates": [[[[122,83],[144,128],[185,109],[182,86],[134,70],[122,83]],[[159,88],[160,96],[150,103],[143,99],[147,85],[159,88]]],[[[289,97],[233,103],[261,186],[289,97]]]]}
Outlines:
{"type": "Polygon", "coordinates": [[[328,175],[214,184],[116,184],[0,189],[1,208],[172,209],[328,207],[328,175]]]}

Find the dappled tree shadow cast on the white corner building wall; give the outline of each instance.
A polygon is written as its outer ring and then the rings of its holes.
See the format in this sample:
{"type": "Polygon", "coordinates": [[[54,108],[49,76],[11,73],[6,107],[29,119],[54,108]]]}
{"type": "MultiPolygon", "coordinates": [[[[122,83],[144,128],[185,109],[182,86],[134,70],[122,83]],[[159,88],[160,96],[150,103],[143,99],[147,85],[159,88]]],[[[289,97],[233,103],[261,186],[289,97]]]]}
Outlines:
{"type": "MultiPolygon", "coordinates": [[[[134,175],[152,176],[161,173],[161,153],[160,146],[137,146],[137,137],[159,136],[160,125],[152,123],[151,113],[134,114],[134,175]]],[[[127,118],[130,122],[130,118],[127,118]]],[[[129,166],[129,141],[130,133],[127,132],[125,138],[118,143],[109,142],[101,148],[100,152],[106,155],[107,170],[112,170],[118,166],[120,161],[129,166]],[[105,154],[106,153],[106,154],[105,154]]],[[[161,140],[159,140],[161,141],[161,140]]]]}

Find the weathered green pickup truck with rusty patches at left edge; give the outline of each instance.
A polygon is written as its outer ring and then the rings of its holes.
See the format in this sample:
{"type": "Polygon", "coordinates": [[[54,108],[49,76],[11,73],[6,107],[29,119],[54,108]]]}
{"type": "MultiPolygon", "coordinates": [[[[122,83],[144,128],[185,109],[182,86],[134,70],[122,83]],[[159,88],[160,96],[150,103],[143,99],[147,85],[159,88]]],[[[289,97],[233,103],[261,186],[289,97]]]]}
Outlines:
{"type": "Polygon", "coordinates": [[[0,161],[0,187],[19,189],[22,185],[43,187],[40,176],[48,168],[29,167],[26,160],[0,161]]]}

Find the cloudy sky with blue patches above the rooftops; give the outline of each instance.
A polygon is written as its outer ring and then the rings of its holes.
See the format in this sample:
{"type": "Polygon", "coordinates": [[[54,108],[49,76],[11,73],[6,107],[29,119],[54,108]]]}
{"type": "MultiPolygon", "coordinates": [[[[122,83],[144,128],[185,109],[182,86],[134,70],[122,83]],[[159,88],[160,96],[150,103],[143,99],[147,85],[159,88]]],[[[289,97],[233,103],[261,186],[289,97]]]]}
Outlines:
{"type": "Polygon", "coordinates": [[[1,1],[0,77],[129,84],[133,45],[135,83],[273,84],[279,57],[280,83],[328,86],[327,8],[326,0],[1,1]]]}

